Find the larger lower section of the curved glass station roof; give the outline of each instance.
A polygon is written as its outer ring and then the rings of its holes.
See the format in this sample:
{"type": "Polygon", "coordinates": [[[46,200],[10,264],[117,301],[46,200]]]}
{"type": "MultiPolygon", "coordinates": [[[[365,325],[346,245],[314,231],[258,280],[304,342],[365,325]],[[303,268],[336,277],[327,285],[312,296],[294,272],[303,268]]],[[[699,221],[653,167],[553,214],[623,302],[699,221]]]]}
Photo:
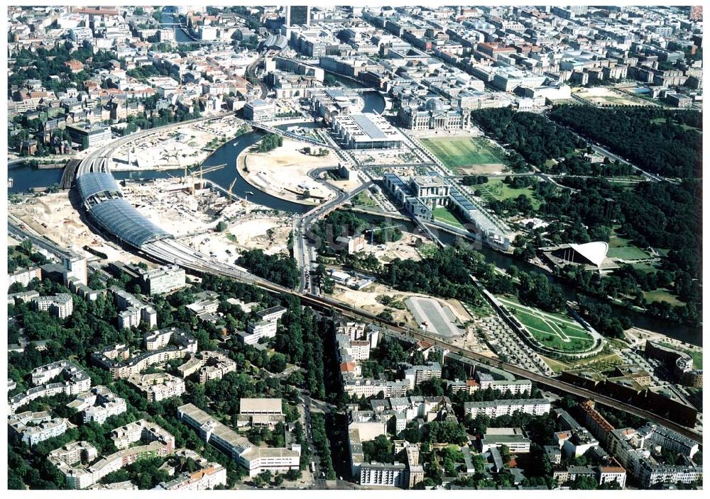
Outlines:
{"type": "MultiPolygon", "coordinates": [[[[110,174],[107,175],[111,176],[110,174]]],[[[80,178],[84,178],[84,176],[80,178]]],[[[113,180],[113,177],[111,179],[113,180]]],[[[102,203],[89,208],[89,214],[107,232],[135,247],[141,247],[146,242],[173,237],[173,235],[165,232],[151,220],[141,215],[124,198],[102,201],[102,203]]]]}

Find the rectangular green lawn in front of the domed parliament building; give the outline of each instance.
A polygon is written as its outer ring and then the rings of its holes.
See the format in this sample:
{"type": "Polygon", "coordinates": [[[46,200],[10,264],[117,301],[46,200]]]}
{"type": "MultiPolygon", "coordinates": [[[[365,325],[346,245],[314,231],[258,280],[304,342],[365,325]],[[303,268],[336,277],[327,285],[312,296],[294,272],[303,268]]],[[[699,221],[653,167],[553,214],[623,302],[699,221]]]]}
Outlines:
{"type": "Polygon", "coordinates": [[[503,150],[483,137],[430,137],[420,141],[454,172],[476,164],[503,163],[503,150]]]}

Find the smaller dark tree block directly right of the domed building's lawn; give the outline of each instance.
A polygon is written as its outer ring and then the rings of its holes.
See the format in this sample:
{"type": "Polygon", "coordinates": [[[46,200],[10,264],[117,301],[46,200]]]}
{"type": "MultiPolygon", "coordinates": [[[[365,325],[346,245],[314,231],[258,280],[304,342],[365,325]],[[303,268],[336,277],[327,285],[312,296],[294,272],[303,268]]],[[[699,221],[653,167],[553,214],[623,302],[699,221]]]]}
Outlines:
{"type": "Polygon", "coordinates": [[[584,147],[574,133],[535,113],[520,113],[512,108],[473,111],[471,119],[488,135],[512,147],[530,164],[540,167],[547,159],[568,155],[584,147]]]}

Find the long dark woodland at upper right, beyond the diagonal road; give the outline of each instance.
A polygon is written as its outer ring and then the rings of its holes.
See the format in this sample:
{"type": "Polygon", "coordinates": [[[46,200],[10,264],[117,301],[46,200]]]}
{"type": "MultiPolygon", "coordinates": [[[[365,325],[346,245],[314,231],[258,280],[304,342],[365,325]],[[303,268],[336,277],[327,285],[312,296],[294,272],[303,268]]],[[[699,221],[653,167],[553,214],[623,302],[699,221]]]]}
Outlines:
{"type": "Polygon", "coordinates": [[[701,174],[702,135],[687,129],[702,128],[699,111],[555,106],[550,118],[649,172],[681,178],[701,174]]]}

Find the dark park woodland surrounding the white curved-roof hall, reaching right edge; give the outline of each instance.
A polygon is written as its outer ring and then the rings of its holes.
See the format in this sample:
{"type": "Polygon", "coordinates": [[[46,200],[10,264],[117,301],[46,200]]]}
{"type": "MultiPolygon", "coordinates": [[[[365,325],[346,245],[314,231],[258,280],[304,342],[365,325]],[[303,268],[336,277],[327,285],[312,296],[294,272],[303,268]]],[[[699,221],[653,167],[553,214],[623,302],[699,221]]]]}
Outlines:
{"type": "MultiPolygon", "coordinates": [[[[544,200],[540,213],[553,221],[545,229],[552,244],[608,241],[612,225],[639,247],[670,250],[658,271],[635,271],[628,265],[599,276],[577,266],[555,273],[580,291],[598,298],[620,298],[645,306],[652,315],[675,322],[701,322],[701,186],[698,180],[640,182],[633,189],[615,187],[606,179],[565,179],[575,191],[554,189],[547,182],[535,187],[544,200]],[[608,200],[611,200],[608,201],[608,200]],[[667,288],[686,305],[647,303],[643,291],[667,288]]],[[[537,234],[537,235],[535,235],[537,234]]],[[[532,241],[544,245],[540,232],[532,241]]],[[[517,242],[516,242],[517,244],[517,242]]]]}

